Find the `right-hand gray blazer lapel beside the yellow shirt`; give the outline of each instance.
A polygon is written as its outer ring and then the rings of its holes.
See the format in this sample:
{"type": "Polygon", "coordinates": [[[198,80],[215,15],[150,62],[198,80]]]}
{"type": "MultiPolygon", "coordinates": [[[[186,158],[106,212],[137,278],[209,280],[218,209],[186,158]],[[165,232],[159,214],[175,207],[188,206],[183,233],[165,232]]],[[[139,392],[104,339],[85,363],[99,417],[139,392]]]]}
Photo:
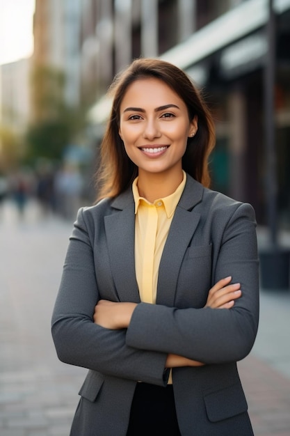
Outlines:
{"type": "Polygon", "coordinates": [[[200,214],[193,212],[192,209],[202,200],[203,192],[204,187],[190,176],[187,176],[186,187],[175,210],[161,256],[157,304],[174,305],[177,279],[182,260],[200,221],[200,214]]]}

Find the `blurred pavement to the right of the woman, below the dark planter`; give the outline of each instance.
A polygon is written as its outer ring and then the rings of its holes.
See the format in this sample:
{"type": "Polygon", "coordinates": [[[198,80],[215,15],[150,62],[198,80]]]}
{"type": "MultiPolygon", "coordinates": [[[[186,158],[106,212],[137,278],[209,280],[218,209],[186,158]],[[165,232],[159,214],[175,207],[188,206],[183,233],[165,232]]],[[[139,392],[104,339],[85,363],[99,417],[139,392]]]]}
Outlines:
{"type": "Polygon", "coordinates": [[[255,436],[290,435],[290,293],[261,290],[259,331],[239,362],[255,436]]]}

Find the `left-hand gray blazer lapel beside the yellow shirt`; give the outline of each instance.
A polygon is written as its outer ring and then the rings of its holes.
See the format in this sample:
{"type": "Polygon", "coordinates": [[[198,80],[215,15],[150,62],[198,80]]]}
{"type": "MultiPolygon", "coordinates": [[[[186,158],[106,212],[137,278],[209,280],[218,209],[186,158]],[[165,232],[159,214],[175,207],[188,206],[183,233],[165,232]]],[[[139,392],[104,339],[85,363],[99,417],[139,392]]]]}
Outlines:
{"type": "Polygon", "coordinates": [[[104,217],[111,272],[118,297],[122,302],[140,302],[135,271],[135,213],[130,192],[113,202],[122,208],[104,217]]]}

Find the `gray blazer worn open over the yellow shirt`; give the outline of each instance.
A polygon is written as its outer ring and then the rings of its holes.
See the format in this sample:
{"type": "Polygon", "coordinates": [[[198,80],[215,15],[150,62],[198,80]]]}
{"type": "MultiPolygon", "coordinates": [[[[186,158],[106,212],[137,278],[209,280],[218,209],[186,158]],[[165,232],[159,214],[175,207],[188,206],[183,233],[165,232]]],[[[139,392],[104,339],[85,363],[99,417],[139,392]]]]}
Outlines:
{"type": "Polygon", "coordinates": [[[140,303],[131,189],[79,210],[52,317],[59,359],[88,368],[71,436],[127,433],[136,381],[165,386],[166,356],[204,362],[172,371],[182,436],[250,436],[236,361],[257,334],[255,212],[190,176],[159,267],[156,304],[140,303]],[[242,296],[229,310],[203,309],[211,286],[231,275],[242,296]],[[128,329],[92,322],[98,299],[136,302],[128,329]]]}

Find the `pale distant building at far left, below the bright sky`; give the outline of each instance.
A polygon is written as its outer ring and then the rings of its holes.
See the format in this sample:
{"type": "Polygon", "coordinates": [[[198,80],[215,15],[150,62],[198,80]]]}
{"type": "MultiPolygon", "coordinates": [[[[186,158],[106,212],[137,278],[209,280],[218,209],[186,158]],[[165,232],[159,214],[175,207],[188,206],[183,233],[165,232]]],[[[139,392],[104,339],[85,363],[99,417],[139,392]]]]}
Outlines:
{"type": "Polygon", "coordinates": [[[0,125],[22,134],[29,123],[30,59],[0,65],[0,125]]]}

